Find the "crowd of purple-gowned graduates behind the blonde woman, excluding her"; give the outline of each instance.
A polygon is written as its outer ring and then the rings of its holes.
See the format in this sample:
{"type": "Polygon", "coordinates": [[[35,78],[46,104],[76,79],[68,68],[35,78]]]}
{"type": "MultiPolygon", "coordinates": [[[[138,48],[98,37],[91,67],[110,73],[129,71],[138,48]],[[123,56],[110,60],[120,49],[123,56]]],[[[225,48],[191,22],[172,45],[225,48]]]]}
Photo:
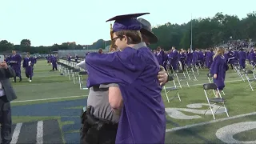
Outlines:
{"type": "MultiPolygon", "coordinates": [[[[190,48],[188,50],[176,50],[175,46],[171,50],[162,50],[161,47],[158,47],[157,50],[154,50],[154,54],[158,58],[158,62],[161,66],[170,68],[173,70],[178,70],[178,66],[182,65],[184,70],[185,66],[205,66],[210,69],[212,62],[214,61],[214,54],[216,49],[209,48],[207,50],[193,50],[190,48]]],[[[256,62],[256,49],[243,49],[233,50],[225,49],[224,53],[225,61],[228,64],[239,63],[240,66],[245,68],[246,59],[250,62],[252,66],[255,66],[256,62]]]]}

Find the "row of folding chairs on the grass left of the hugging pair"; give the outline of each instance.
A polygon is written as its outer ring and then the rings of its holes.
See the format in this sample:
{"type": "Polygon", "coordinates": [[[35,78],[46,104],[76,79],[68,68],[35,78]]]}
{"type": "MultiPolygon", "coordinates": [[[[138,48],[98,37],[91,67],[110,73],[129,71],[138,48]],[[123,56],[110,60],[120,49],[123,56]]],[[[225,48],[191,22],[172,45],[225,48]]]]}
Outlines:
{"type": "Polygon", "coordinates": [[[87,90],[88,88],[84,86],[83,76],[87,74],[86,70],[82,70],[77,66],[76,62],[68,62],[67,60],[60,59],[58,61],[58,70],[61,74],[73,80],[74,84],[79,84],[80,90],[87,90]]]}

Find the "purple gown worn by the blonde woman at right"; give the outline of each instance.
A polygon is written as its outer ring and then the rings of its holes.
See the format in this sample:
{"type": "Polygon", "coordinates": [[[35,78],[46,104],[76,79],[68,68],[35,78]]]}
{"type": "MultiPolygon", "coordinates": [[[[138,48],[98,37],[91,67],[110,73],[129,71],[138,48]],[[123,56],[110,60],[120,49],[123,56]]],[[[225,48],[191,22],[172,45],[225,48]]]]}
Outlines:
{"type": "Polygon", "coordinates": [[[223,90],[225,87],[227,64],[224,56],[218,55],[214,58],[214,62],[211,65],[210,73],[217,74],[217,78],[214,78],[214,83],[218,86],[218,90],[223,90]]]}

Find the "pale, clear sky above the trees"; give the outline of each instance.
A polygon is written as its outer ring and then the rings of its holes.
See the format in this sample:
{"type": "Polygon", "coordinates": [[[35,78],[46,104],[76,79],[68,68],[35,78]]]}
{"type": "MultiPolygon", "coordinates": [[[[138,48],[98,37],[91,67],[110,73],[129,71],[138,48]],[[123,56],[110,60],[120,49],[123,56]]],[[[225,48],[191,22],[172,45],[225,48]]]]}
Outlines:
{"type": "Polygon", "coordinates": [[[141,18],[152,26],[166,22],[182,24],[192,18],[235,14],[245,18],[255,0],[0,0],[0,41],[14,45],[30,39],[31,46],[76,42],[90,45],[110,40],[107,19],[121,14],[149,12],[141,18]]]}

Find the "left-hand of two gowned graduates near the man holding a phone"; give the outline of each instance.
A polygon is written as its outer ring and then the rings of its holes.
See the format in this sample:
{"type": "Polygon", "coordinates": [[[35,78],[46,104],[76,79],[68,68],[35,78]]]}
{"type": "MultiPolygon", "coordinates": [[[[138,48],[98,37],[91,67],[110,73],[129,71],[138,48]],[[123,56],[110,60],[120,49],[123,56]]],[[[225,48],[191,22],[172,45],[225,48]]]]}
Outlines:
{"type": "Polygon", "coordinates": [[[15,50],[13,50],[12,53],[13,55],[10,57],[10,67],[12,67],[15,70],[16,76],[14,77],[14,82],[16,82],[16,77],[19,78],[19,82],[22,82],[22,57],[20,54],[16,54],[15,50]]]}

